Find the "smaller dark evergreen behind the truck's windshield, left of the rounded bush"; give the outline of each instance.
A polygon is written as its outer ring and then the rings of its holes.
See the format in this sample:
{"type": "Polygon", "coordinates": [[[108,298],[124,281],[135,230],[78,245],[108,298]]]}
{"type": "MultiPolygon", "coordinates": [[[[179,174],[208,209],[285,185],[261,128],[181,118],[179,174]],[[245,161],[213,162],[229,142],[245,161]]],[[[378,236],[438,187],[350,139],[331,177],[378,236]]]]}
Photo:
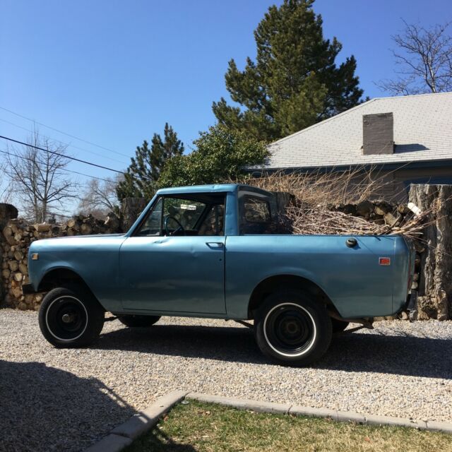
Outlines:
{"type": "Polygon", "coordinates": [[[131,158],[131,164],[124,174],[124,181],[117,184],[116,193],[119,201],[124,198],[152,198],[157,189],[160,172],[167,160],[183,153],[184,143],[166,123],[163,140],[158,133],[154,133],[150,148],[147,141],[137,146],[135,157],[131,158]]]}

